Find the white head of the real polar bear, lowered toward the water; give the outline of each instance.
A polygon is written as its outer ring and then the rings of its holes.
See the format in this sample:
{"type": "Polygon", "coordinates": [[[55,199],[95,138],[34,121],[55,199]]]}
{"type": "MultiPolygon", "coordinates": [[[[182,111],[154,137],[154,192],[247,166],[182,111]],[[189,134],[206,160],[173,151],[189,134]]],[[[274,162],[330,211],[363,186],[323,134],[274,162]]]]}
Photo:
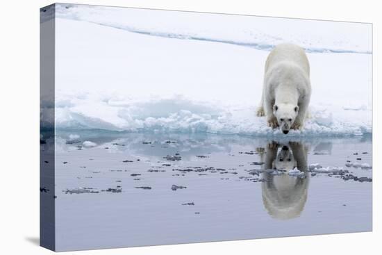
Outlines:
{"type": "Polygon", "coordinates": [[[277,118],[281,131],[285,134],[289,132],[298,113],[299,106],[294,104],[275,104],[273,106],[273,114],[277,118]]]}

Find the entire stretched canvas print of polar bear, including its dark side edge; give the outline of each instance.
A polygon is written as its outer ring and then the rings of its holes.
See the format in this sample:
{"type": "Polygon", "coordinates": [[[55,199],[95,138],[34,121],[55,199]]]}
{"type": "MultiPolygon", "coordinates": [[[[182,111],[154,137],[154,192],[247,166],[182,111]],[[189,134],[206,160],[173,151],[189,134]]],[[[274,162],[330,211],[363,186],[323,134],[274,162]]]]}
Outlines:
{"type": "Polygon", "coordinates": [[[42,247],[372,231],[372,24],[40,18],[42,247]]]}

